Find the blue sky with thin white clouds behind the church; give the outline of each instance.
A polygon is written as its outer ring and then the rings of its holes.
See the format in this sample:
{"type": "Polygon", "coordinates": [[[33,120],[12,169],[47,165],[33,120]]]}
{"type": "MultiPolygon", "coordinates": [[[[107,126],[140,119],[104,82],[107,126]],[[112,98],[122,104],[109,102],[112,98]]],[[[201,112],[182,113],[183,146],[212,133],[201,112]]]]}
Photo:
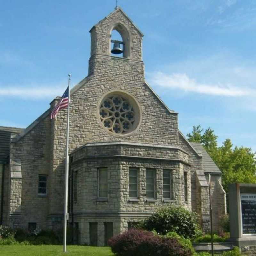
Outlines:
{"type": "MultiPolygon", "coordinates": [[[[115,0],[4,1],[0,125],[26,127],[87,76],[91,27],[115,0]]],[[[144,33],[146,79],[186,135],[209,126],[256,151],[256,1],[119,0],[144,33]]]]}

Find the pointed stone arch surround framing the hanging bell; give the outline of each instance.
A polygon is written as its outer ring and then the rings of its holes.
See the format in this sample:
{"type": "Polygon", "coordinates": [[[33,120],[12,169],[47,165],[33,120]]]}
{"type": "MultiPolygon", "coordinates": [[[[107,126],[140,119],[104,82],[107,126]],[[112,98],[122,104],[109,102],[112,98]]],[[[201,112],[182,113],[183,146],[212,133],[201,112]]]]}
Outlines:
{"type": "Polygon", "coordinates": [[[131,36],[130,36],[130,33],[129,33],[129,30],[128,28],[126,28],[126,26],[121,23],[121,22],[117,22],[115,24],[113,24],[112,26],[110,26],[109,30],[108,30],[108,45],[109,45],[109,48],[108,48],[108,53],[111,54],[111,36],[112,36],[112,31],[113,30],[116,30],[120,36],[122,37],[122,41],[124,43],[123,45],[123,58],[127,58],[127,59],[130,59],[131,58],[131,36]]]}

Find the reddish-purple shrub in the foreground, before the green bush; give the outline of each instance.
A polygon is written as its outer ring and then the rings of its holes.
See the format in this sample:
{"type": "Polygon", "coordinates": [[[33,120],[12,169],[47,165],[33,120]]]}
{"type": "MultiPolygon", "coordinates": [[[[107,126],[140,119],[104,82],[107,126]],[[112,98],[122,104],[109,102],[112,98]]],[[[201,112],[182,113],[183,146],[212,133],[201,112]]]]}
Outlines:
{"type": "Polygon", "coordinates": [[[152,232],[131,229],[108,240],[108,245],[117,256],[192,256],[177,238],[154,236],[152,232]]]}

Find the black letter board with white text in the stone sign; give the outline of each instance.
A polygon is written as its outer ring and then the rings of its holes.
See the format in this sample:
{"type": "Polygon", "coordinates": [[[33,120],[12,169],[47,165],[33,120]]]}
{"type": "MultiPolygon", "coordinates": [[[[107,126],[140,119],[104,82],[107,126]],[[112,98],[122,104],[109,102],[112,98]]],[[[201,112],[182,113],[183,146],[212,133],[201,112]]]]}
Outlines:
{"type": "Polygon", "coordinates": [[[256,236],[256,194],[241,194],[243,235],[256,236]]]}

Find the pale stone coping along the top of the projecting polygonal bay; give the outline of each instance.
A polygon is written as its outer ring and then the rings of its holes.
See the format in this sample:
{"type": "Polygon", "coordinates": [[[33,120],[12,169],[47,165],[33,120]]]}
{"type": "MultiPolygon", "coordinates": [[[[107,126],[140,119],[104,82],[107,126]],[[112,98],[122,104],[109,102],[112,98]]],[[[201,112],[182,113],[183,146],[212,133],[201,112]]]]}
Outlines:
{"type": "Polygon", "coordinates": [[[137,142],[124,142],[124,141],[111,141],[111,142],[92,142],[86,143],[85,145],[74,149],[70,154],[75,153],[76,151],[84,148],[84,147],[93,147],[93,146],[112,146],[112,145],[128,145],[128,146],[140,146],[140,147],[152,147],[152,148],[170,148],[176,149],[188,154],[184,149],[173,146],[173,145],[160,145],[160,144],[149,144],[149,143],[137,143],[137,142]]]}

